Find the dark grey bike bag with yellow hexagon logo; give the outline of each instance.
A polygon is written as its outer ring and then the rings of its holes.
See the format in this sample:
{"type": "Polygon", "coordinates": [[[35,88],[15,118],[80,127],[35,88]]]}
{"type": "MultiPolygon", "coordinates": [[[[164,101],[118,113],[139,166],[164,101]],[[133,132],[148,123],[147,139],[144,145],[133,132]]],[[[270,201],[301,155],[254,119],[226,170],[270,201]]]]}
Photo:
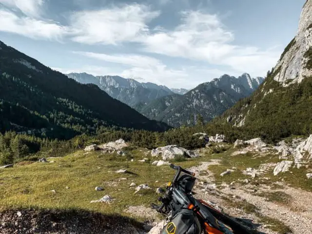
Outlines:
{"type": "Polygon", "coordinates": [[[163,228],[161,234],[201,234],[201,226],[192,210],[183,209],[163,228]]]}

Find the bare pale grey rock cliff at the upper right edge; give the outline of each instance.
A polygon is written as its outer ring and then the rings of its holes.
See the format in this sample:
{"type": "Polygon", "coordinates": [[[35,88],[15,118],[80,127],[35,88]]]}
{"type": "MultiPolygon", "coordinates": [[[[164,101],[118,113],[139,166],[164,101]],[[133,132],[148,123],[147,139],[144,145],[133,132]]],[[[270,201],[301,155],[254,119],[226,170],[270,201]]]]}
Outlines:
{"type": "Polygon", "coordinates": [[[297,35],[285,48],[273,70],[274,80],[288,86],[312,76],[312,0],[305,3],[297,35]]]}

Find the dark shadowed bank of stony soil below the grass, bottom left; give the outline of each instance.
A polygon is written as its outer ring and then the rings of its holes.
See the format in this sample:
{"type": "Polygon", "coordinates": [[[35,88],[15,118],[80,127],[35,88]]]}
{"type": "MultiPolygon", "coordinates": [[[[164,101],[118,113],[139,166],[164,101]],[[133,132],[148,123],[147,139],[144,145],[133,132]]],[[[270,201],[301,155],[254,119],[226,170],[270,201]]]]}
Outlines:
{"type": "Polygon", "coordinates": [[[0,210],[0,234],[143,234],[143,224],[87,211],[0,210]]]}

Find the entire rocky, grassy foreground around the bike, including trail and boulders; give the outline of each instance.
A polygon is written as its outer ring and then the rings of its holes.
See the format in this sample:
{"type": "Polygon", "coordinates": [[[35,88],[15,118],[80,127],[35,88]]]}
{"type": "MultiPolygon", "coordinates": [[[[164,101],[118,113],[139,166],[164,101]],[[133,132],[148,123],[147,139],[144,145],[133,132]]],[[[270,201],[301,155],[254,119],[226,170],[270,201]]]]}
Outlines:
{"type": "MultiPolygon", "coordinates": [[[[149,204],[174,175],[169,162],[196,173],[195,197],[255,234],[311,233],[312,136],[277,146],[260,138],[234,145],[222,135],[213,140],[196,151],[176,146],[149,151],[120,139],[2,168],[0,233],[148,233],[162,219],[149,204]]],[[[159,234],[162,226],[150,234],[159,234]]]]}

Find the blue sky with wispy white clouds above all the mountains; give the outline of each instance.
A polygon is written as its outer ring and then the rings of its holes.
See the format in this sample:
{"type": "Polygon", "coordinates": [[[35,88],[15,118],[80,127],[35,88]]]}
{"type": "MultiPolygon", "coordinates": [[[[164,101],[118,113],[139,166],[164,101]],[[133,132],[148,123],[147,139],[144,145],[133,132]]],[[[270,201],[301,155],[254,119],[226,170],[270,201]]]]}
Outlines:
{"type": "Polygon", "coordinates": [[[264,77],[306,0],[0,0],[0,40],[62,73],[194,88],[264,77]]]}

